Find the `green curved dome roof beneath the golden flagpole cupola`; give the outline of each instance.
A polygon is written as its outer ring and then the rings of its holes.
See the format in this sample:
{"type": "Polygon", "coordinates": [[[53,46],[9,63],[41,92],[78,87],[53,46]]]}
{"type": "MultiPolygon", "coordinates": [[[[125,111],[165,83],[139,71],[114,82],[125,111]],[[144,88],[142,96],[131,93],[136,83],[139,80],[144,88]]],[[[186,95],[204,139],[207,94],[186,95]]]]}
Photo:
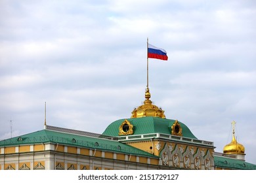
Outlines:
{"type": "MultiPolygon", "coordinates": [[[[175,120],[153,116],[126,118],[112,122],[112,124],[108,125],[102,134],[118,137],[119,127],[125,120],[128,120],[133,125],[133,135],[142,135],[148,133],[163,133],[171,135],[171,126],[175,123],[175,120]]],[[[181,122],[179,122],[179,124],[182,128],[182,137],[197,139],[186,125],[182,124],[181,122]]]]}

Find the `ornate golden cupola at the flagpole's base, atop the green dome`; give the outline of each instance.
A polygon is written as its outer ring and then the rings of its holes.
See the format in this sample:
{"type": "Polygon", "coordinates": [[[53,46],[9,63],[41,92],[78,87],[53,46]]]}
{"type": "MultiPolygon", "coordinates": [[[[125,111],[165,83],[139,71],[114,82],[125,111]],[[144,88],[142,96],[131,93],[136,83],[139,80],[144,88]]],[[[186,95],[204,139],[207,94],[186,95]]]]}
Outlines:
{"type": "Polygon", "coordinates": [[[157,107],[156,105],[153,105],[152,101],[150,101],[150,97],[150,91],[147,87],[143,105],[140,105],[139,107],[135,108],[133,112],[131,112],[131,118],[142,118],[146,116],[165,118],[164,110],[157,107]]]}

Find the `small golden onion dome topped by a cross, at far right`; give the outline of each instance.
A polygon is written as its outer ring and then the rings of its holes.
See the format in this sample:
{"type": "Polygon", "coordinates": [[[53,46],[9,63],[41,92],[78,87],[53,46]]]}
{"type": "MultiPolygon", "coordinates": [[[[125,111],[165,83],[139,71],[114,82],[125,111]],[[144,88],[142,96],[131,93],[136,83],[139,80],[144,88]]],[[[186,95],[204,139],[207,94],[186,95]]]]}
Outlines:
{"type": "Polygon", "coordinates": [[[235,133],[234,132],[234,124],[236,124],[236,122],[232,122],[232,125],[233,125],[232,141],[229,144],[226,144],[226,146],[224,146],[224,148],[223,148],[224,154],[244,154],[244,152],[245,152],[244,146],[236,141],[236,138],[234,135],[234,133],[235,133]]]}

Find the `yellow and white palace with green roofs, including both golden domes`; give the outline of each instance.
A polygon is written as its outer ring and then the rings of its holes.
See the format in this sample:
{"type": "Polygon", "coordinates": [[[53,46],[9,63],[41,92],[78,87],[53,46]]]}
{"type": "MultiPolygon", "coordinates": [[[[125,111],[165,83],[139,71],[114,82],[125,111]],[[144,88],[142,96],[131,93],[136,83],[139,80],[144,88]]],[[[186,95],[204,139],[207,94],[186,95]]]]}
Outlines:
{"type": "Polygon", "coordinates": [[[152,104],[147,87],[144,103],[130,118],[112,122],[102,134],[46,124],[40,131],[0,141],[1,170],[114,169],[256,169],[245,161],[235,139],[215,152],[213,142],[197,139],[179,120],[165,118],[152,104]]]}

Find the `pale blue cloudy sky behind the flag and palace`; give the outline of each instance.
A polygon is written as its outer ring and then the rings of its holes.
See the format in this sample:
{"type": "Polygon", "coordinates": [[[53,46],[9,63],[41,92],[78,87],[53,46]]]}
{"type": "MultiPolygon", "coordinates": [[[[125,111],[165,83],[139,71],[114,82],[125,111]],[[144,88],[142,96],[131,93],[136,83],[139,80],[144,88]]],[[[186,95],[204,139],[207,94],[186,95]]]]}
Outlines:
{"type": "Polygon", "coordinates": [[[47,125],[103,133],[144,101],[256,164],[256,2],[0,1],[0,139],[47,125]]]}

